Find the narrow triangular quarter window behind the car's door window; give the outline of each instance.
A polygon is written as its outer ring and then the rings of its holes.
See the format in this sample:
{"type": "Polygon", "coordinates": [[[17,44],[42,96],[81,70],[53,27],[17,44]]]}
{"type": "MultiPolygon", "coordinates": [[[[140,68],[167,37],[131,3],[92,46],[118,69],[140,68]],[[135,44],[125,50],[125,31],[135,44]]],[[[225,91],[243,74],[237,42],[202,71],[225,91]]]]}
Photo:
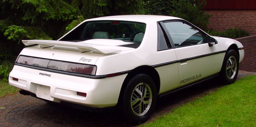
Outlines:
{"type": "Polygon", "coordinates": [[[161,29],[161,27],[159,26],[159,24],[157,24],[157,50],[165,50],[168,49],[167,43],[166,43],[166,39],[164,38],[164,33],[161,29]]]}

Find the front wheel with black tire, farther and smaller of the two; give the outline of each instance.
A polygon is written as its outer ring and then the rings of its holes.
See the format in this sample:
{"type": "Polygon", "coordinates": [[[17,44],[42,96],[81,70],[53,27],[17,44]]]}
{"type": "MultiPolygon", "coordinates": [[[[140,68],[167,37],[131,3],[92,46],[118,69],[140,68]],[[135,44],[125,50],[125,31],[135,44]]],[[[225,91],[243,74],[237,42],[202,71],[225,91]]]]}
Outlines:
{"type": "Polygon", "coordinates": [[[222,68],[220,71],[220,79],[224,84],[231,84],[237,78],[239,70],[239,57],[235,50],[229,50],[223,60],[222,68]],[[231,62],[233,61],[233,62],[231,62]],[[233,63],[233,65],[231,65],[233,63]],[[228,69],[230,67],[230,69],[228,69]],[[230,73],[229,73],[230,72],[230,73]]]}

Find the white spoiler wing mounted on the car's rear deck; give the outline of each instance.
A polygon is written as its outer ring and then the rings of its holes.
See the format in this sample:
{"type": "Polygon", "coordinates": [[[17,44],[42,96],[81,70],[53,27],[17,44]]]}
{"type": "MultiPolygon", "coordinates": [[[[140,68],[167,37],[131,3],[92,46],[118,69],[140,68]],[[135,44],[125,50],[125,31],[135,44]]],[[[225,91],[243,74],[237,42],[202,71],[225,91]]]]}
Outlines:
{"type": "Polygon", "coordinates": [[[50,46],[65,46],[65,47],[76,47],[81,52],[87,52],[90,50],[97,50],[102,54],[110,54],[113,52],[121,51],[117,46],[104,46],[98,44],[87,44],[87,43],[78,43],[70,41],[55,41],[55,40],[22,40],[22,43],[26,46],[32,44],[39,44],[42,48],[50,46]]]}

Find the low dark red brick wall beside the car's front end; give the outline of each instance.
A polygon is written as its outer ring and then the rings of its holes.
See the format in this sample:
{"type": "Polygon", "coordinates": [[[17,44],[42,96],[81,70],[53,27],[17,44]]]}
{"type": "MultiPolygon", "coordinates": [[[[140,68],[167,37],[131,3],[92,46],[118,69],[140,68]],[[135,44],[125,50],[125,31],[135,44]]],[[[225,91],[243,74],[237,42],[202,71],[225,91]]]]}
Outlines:
{"type": "Polygon", "coordinates": [[[244,59],[240,63],[239,70],[256,72],[256,35],[236,38],[244,46],[244,59]]]}

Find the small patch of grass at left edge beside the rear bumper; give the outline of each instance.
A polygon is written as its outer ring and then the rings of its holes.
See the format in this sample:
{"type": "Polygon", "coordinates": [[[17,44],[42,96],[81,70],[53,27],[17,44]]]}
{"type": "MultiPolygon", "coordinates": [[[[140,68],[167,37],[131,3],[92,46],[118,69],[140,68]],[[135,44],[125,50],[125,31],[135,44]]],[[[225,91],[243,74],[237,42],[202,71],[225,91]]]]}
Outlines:
{"type": "Polygon", "coordinates": [[[0,97],[5,96],[7,94],[13,94],[18,91],[19,89],[9,85],[8,82],[0,80],[0,97]]]}

